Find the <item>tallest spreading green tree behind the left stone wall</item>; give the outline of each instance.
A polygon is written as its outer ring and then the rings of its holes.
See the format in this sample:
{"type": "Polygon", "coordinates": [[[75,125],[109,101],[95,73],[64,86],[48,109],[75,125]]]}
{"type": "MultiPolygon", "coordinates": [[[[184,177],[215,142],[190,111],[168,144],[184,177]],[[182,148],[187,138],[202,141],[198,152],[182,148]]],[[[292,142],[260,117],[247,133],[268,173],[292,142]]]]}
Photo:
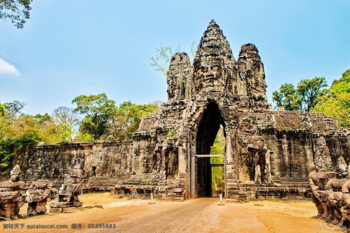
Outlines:
{"type": "Polygon", "coordinates": [[[72,100],[72,103],[77,104],[73,110],[85,115],[85,118],[80,122],[80,131],[89,133],[93,139],[98,139],[105,133],[106,123],[110,117],[116,114],[116,102],[109,100],[105,93],[98,95],[79,95],[72,100]]]}

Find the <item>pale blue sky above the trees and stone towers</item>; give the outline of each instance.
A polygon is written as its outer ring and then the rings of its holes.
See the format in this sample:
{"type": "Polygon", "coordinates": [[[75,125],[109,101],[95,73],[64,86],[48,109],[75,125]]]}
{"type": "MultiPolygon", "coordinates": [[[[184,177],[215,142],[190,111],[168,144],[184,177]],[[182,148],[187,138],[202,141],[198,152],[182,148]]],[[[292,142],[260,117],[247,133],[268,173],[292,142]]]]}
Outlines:
{"type": "Polygon", "coordinates": [[[149,58],[162,43],[189,52],[214,19],[237,58],[254,43],[267,96],[284,82],[350,68],[350,1],[44,1],[34,0],[24,29],[0,22],[0,101],[28,114],[74,107],[81,94],[117,104],[167,100],[166,78],[149,58]]]}

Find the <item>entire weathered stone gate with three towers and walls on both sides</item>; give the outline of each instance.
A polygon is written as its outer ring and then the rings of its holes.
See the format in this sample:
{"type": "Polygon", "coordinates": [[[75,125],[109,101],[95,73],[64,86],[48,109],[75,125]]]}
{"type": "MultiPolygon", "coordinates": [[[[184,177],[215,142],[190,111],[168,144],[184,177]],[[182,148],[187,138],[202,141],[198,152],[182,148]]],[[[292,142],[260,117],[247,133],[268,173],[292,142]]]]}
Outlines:
{"type": "Polygon", "coordinates": [[[272,110],[258,49],[244,44],[236,60],[214,20],[193,64],[186,53],[172,57],[167,83],[168,101],[141,119],[133,140],[36,145],[17,151],[13,166],[21,166],[27,182],[45,178],[58,187],[81,150],[91,174],[88,189],[113,187],[127,195],[137,186],[141,195],[175,200],[209,196],[207,155],[221,126],[229,199],[310,198],[308,168],[320,137],[329,148],[329,166],[335,168],[340,156],[350,162],[348,132],[336,120],[272,110]]]}

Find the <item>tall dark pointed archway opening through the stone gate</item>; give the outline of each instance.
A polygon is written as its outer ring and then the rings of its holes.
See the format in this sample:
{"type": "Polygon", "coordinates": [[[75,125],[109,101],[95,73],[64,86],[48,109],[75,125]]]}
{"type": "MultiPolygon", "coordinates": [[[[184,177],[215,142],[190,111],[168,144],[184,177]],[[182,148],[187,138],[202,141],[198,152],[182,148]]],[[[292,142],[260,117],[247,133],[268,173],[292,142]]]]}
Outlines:
{"type": "MultiPolygon", "coordinates": [[[[224,119],[218,105],[215,102],[209,102],[197,126],[196,155],[192,158],[191,167],[192,198],[212,197],[218,192],[215,190],[218,185],[225,184],[226,187],[225,148],[220,154],[215,154],[215,150],[210,153],[211,147],[220,135],[218,131],[221,130],[223,137],[226,137],[224,126],[224,119]]],[[[224,141],[225,138],[222,140],[224,141]]],[[[224,188],[219,192],[223,191],[224,188]]]]}

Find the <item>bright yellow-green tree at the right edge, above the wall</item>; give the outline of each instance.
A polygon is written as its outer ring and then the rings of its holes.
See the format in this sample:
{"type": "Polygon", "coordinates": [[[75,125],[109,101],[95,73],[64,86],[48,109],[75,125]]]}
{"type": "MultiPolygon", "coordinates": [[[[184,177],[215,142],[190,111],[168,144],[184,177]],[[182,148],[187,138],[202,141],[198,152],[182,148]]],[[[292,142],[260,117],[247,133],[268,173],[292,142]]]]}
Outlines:
{"type": "Polygon", "coordinates": [[[313,112],[323,112],[338,120],[339,127],[350,129],[350,69],[334,80],[330,88],[323,90],[313,112]]]}

